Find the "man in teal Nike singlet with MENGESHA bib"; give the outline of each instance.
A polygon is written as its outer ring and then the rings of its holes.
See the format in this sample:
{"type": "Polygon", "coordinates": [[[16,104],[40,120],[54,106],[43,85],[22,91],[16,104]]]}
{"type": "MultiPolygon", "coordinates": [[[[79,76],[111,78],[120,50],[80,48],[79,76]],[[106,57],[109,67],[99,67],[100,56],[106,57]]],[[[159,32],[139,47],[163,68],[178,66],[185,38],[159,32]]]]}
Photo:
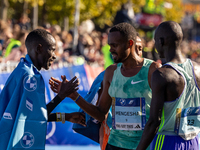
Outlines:
{"type": "Polygon", "coordinates": [[[113,125],[107,150],[135,149],[149,116],[151,75],[160,64],[142,58],[136,52],[136,36],[134,27],[128,23],[117,24],[109,31],[108,44],[115,64],[105,71],[98,106],[86,102],[77,92],[69,96],[100,122],[113,104],[113,125]],[[144,119],[139,119],[141,116],[144,119]]]}

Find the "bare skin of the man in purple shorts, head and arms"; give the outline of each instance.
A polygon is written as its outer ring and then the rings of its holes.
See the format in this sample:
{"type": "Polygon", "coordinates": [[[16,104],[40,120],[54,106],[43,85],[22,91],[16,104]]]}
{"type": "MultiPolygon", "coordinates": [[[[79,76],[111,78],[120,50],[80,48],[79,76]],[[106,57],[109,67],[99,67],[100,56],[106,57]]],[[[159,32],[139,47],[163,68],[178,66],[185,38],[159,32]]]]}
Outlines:
{"type": "MultiPolygon", "coordinates": [[[[165,22],[167,26],[175,26],[177,34],[181,35],[181,28],[175,22],[165,22]]],[[[182,64],[186,59],[181,54],[181,38],[174,40],[173,31],[166,30],[158,26],[155,32],[155,46],[161,57],[165,57],[167,62],[182,64]]],[[[200,87],[200,65],[193,62],[194,73],[197,85],[200,87]]],[[[150,117],[145,125],[145,129],[137,150],[145,150],[155,137],[161,123],[161,115],[165,102],[174,101],[183,92],[185,81],[183,77],[170,66],[163,66],[157,69],[151,79],[152,100],[150,108],[150,117]]]]}

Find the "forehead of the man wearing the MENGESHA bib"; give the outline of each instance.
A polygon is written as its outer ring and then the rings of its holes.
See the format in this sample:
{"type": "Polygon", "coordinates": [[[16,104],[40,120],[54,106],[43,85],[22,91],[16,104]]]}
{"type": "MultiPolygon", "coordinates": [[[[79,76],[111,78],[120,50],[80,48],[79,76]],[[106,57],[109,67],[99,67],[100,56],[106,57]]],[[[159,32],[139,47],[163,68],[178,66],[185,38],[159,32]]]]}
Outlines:
{"type": "Polygon", "coordinates": [[[108,44],[118,43],[118,42],[121,42],[122,40],[123,40],[123,38],[119,31],[110,32],[108,34],[108,44]]]}

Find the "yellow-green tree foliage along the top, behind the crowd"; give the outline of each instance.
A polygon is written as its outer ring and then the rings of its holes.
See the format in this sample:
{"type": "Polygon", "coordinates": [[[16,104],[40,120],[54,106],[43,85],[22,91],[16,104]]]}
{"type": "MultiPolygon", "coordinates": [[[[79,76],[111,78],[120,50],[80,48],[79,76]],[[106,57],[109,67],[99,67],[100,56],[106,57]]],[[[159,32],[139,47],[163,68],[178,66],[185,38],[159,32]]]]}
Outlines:
{"type": "MultiPolygon", "coordinates": [[[[39,6],[39,23],[46,15],[45,22],[51,24],[63,24],[64,17],[69,18],[69,25],[74,25],[75,1],[76,0],[8,0],[10,3],[8,17],[19,19],[23,12],[23,3],[28,2],[26,13],[32,19],[32,9],[35,3],[39,6]],[[45,11],[44,11],[45,10],[45,11]],[[45,12],[45,14],[44,14],[45,12]]],[[[92,19],[100,27],[111,26],[116,12],[123,3],[128,0],[80,0],[80,23],[86,19],[92,19]]],[[[141,12],[146,0],[130,0],[133,3],[135,14],[141,12]]],[[[165,20],[180,22],[183,15],[181,0],[155,0],[155,5],[161,2],[173,4],[172,8],[165,9],[165,20]]]]}

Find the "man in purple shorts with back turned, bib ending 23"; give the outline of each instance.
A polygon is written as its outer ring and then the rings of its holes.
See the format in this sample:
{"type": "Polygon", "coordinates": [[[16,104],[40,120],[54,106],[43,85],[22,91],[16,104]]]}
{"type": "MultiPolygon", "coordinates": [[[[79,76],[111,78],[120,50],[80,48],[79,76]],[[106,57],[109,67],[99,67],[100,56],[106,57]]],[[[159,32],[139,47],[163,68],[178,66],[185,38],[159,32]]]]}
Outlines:
{"type": "Polygon", "coordinates": [[[200,131],[200,65],[181,54],[183,33],[173,21],[161,23],[155,46],[168,63],[153,73],[150,117],[137,150],[197,150],[200,131]]]}

